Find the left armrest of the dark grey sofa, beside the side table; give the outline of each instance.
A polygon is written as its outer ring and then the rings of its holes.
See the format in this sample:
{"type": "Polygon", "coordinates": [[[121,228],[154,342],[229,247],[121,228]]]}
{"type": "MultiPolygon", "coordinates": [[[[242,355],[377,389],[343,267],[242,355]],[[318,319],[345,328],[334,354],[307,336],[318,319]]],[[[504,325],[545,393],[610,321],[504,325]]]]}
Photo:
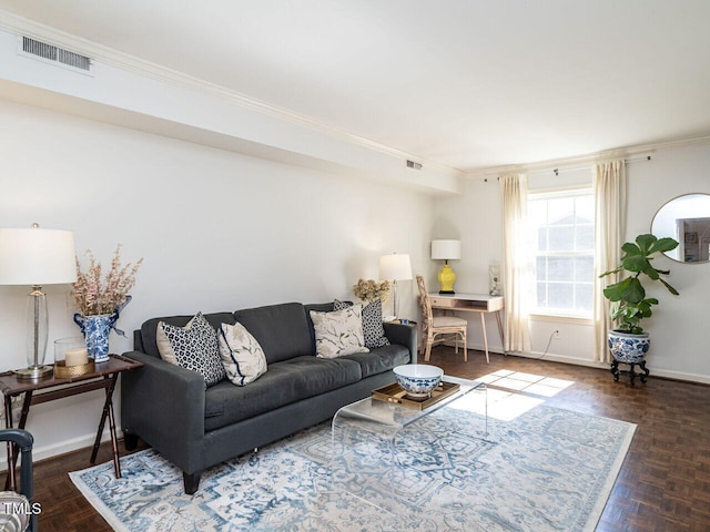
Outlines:
{"type": "Polygon", "coordinates": [[[204,437],[204,379],[141,351],[124,356],[143,367],[121,376],[123,431],[140,437],[182,470],[194,471],[191,457],[204,437]]]}

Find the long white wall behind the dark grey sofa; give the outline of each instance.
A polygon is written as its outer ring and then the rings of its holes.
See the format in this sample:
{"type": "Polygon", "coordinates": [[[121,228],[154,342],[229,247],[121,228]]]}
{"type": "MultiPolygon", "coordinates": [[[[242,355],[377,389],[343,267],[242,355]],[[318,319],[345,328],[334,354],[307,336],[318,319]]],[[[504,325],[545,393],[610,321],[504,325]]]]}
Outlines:
{"type": "MultiPolygon", "coordinates": [[[[155,316],[353,298],[393,250],[409,253],[415,272],[428,266],[424,194],[1,100],[0,116],[0,226],[72,229],[82,260],[90,248],[108,264],[119,243],[124,262],[143,257],[119,320],[129,334],[155,316]]],[[[416,287],[399,287],[400,314],[415,317],[416,287]]],[[[50,344],[79,334],[69,290],[45,289],[50,344]]],[[[0,287],[1,370],[27,366],[28,293],[0,287]]],[[[112,351],[131,348],[112,335],[112,351]]],[[[101,396],[32,407],[36,456],[89,444],[101,396]]]]}

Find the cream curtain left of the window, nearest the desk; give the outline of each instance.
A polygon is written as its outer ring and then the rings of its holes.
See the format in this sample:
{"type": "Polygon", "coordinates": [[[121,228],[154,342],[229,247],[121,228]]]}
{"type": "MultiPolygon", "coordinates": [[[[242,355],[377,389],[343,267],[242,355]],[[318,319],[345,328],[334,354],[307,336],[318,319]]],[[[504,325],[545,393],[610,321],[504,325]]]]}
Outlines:
{"type": "Polygon", "coordinates": [[[503,196],[503,262],[506,304],[506,351],[529,351],[528,293],[531,288],[528,265],[527,176],[500,177],[503,196]]]}

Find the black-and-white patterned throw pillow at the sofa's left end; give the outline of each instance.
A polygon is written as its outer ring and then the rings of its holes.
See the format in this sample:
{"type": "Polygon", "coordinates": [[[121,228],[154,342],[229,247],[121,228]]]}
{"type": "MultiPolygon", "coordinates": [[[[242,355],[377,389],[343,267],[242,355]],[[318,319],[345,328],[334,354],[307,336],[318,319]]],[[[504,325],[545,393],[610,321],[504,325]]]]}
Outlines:
{"type": "Polygon", "coordinates": [[[158,326],[165,332],[178,366],[197,371],[205,386],[216,385],[226,378],[220,357],[217,334],[202,313],[197,313],[185,328],[163,321],[158,326]]]}

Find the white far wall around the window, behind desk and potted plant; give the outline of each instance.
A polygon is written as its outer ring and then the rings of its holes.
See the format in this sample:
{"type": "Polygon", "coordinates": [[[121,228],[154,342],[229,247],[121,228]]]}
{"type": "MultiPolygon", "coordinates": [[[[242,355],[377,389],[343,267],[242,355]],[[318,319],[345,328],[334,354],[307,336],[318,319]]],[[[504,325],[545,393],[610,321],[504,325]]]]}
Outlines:
{"type": "MultiPolygon", "coordinates": [[[[591,168],[566,171],[555,176],[535,172],[529,176],[531,188],[545,188],[590,183],[591,168]]],[[[627,164],[629,205],[627,241],[649,233],[651,219],[667,201],[688,193],[710,193],[710,144],[658,150],[651,161],[627,164]]],[[[501,258],[500,196],[495,177],[471,177],[463,197],[437,200],[433,237],[460,237],[463,258],[454,263],[459,291],[486,291],[488,264],[501,258]]],[[[647,358],[651,375],[700,382],[710,382],[710,354],[707,349],[706,300],[710,293],[710,264],[680,264],[666,257],[656,259],[657,267],[670,268],[669,283],[679,291],[673,297],[665,289],[650,291],[660,300],[652,318],[643,325],[651,334],[651,351],[647,358]]],[[[434,265],[429,283],[436,282],[434,265]]],[[[504,287],[505,288],[505,287],[504,287]]],[[[487,328],[493,350],[501,351],[489,316],[487,328]],[[494,331],[494,334],[490,334],[494,331]]],[[[549,342],[546,359],[595,366],[592,362],[592,327],[575,319],[534,317],[530,323],[532,351],[540,356],[549,342]],[[560,338],[549,342],[552,330],[560,338]]],[[[477,316],[471,318],[469,345],[480,348],[483,340],[477,316]]],[[[596,365],[605,367],[601,365],[596,365]]]]}

